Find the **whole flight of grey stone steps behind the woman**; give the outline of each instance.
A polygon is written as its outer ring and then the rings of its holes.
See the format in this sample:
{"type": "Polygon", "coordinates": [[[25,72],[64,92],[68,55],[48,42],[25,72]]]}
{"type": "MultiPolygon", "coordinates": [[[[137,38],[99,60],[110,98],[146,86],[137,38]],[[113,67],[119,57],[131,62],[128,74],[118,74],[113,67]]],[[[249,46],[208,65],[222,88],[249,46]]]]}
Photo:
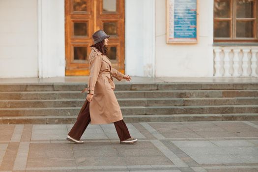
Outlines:
{"type": "MultiPolygon", "coordinates": [[[[2,84],[0,124],[74,123],[85,84],[2,84]]],[[[116,84],[126,122],[258,120],[258,83],[116,84]]]]}

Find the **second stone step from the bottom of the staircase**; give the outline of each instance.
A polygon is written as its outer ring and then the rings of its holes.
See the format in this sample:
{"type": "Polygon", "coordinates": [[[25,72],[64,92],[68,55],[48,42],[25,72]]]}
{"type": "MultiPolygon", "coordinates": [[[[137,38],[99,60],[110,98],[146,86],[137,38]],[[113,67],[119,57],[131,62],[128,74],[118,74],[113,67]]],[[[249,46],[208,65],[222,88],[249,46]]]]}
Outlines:
{"type": "MultiPolygon", "coordinates": [[[[80,107],[0,108],[0,116],[78,115],[80,107]]],[[[258,113],[258,105],[121,107],[123,115],[258,113]]]]}

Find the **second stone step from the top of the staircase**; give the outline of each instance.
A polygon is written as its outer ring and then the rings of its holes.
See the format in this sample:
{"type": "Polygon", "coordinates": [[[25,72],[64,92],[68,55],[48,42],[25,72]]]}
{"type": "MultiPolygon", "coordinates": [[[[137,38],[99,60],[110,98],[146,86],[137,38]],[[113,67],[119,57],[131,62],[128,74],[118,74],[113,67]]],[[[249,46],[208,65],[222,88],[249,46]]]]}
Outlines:
{"type": "MultiPolygon", "coordinates": [[[[116,98],[258,97],[258,90],[145,90],[115,91],[116,98]]],[[[0,92],[0,100],[86,99],[80,91],[0,92]]]]}

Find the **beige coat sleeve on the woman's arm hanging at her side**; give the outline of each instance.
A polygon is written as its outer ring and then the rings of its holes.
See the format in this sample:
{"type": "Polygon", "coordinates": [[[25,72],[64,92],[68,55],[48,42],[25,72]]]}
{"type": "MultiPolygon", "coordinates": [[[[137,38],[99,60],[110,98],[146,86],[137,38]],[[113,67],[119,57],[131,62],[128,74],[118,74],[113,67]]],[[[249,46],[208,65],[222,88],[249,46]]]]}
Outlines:
{"type": "Polygon", "coordinates": [[[97,54],[94,54],[90,57],[89,60],[89,78],[87,93],[94,94],[94,87],[99,76],[102,58],[97,54]]]}

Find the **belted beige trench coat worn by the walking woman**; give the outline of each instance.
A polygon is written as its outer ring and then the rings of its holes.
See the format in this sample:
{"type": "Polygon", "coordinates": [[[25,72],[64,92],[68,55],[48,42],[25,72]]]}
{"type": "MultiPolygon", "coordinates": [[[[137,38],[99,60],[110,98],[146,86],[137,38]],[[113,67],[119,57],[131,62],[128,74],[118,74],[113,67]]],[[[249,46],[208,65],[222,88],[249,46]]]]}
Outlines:
{"type": "Polygon", "coordinates": [[[123,119],[115,97],[113,77],[121,81],[124,74],[112,68],[108,57],[91,47],[87,93],[93,94],[89,104],[91,124],[107,124],[123,119]]]}

